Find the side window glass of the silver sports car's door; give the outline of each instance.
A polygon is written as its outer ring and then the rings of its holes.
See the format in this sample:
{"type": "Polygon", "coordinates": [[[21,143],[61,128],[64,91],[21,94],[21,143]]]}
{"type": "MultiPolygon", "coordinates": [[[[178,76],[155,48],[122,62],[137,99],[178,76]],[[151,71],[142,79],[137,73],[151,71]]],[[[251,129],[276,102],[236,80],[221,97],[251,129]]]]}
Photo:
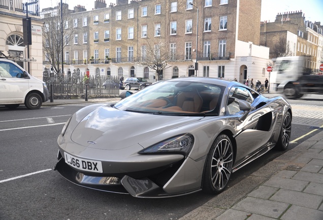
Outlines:
{"type": "Polygon", "coordinates": [[[250,91],[244,87],[232,87],[230,89],[227,104],[227,113],[229,115],[234,115],[240,112],[239,100],[244,100],[251,104],[253,102],[253,97],[250,91]]]}

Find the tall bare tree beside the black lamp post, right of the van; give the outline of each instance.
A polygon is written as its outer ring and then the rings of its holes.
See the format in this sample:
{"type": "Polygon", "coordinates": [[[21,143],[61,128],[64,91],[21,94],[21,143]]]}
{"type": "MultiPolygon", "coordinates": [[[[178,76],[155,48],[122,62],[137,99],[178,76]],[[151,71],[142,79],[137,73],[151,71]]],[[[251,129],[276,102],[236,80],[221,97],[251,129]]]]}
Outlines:
{"type": "Polygon", "coordinates": [[[68,5],[63,4],[62,10],[62,20],[60,17],[60,4],[54,10],[46,13],[43,19],[43,50],[46,59],[56,74],[61,71],[61,62],[64,60],[61,58],[61,51],[66,47],[74,33],[71,11],[68,5]],[[61,25],[63,25],[62,33],[61,25]],[[63,42],[61,36],[63,36],[63,42]],[[61,45],[62,43],[63,45],[61,45]]]}

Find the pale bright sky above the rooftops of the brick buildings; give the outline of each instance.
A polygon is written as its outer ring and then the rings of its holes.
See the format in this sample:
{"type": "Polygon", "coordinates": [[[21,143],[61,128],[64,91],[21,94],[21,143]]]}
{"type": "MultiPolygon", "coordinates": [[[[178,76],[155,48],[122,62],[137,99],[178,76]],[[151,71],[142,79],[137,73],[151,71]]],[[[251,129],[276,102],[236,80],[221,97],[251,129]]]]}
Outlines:
{"type": "MultiPolygon", "coordinates": [[[[194,0],[202,1],[202,0],[194,0]]],[[[230,1],[230,0],[229,0],[230,1]]],[[[40,8],[57,6],[60,0],[40,0],[40,8]]],[[[74,6],[85,6],[89,11],[94,8],[94,0],[62,0],[63,3],[69,4],[69,8],[74,6]]],[[[106,0],[107,5],[115,3],[116,1],[106,0]]],[[[278,13],[301,11],[305,14],[305,19],[309,21],[320,21],[323,24],[323,1],[322,0],[262,0],[262,17],[261,21],[269,20],[273,22],[278,13]]]]}

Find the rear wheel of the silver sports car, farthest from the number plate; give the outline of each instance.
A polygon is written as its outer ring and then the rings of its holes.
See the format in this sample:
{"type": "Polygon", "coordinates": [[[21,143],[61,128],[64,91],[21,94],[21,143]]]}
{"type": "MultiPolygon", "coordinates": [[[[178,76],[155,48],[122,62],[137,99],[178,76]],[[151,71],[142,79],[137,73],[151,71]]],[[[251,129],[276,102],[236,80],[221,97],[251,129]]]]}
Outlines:
{"type": "Polygon", "coordinates": [[[292,133],[292,116],[289,112],[286,112],[283,118],[283,122],[280,128],[277,144],[275,148],[277,150],[284,151],[287,149],[290,140],[290,134],[292,133]]]}

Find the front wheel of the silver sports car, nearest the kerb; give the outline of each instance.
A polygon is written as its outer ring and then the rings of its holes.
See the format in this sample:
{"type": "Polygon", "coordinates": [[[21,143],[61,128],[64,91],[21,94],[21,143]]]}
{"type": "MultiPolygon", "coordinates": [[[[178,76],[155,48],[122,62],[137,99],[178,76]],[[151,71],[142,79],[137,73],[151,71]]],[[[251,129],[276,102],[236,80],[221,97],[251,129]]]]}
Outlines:
{"type": "Polygon", "coordinates": [[[233,161],[231,139],[226,134],[220,134],[207,155],[203,173],[203,191],[209,194],[221,193],[229,182],[233,161]]]}

